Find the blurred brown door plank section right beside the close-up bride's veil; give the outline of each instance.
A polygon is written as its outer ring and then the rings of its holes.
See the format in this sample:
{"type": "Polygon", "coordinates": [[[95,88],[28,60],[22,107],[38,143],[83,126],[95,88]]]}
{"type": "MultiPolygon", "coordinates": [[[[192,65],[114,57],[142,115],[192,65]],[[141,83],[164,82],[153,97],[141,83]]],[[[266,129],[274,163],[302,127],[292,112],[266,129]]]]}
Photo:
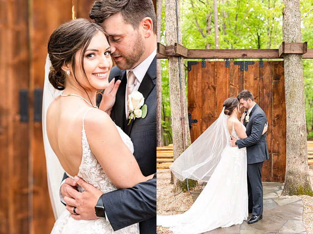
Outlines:
{"type": "MultiPolygon", "coordinates": [[[[31,5],[31,38],[32,61],[30,64],[30,99],[33,104],[34,89],[43,89],[44,65],[47,56],[47,43],[56,27],[72,19],[72,1],[33,0],[31,5]]],[[[46,161],[42,138],[41,122],[33,121],[33,105],[30,107],[30,161],[32,163],[33,218],[29,233],[50,233],[54,225],[54,215],[50,204],[46,161]]]]}

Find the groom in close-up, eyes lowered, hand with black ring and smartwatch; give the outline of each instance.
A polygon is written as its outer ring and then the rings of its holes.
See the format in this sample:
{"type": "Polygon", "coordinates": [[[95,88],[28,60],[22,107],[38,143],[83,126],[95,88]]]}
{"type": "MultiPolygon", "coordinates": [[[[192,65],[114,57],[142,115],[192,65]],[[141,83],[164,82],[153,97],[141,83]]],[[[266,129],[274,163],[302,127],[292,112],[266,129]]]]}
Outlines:
{"type": "Polygon", "coordinates": [[[139,222],[140,233],[156,233],[156,15],[153,3],[151,0],[98,0],[90,11],[90,18],[100,23],[110,37],[116,66],[111,69],[109,80],[121,80],[116,82],[120,84],[110,116],[131,137],[142,174],[155,175],[132,188],[105,194],[80,178],[77,181],[66,178],[60,191],[75,219],[105,218],[114,231],[139,222]],[[128,125],[128,94],[136,90],[145,98],[147,115],[144,119],[131,120],[128,125]],[[78,193],[73,187],[77,183],[86,191],[78,193]]]}

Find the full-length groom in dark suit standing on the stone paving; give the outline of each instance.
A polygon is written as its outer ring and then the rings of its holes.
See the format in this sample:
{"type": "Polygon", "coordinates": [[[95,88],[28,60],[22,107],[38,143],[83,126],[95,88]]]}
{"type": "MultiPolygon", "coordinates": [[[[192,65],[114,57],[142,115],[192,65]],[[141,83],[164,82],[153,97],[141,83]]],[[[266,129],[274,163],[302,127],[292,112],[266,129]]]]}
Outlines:
{"type": "Polygon", "coordinates": [[[247,138],[237,140],[233,137],[232,146],[239,149],[247,147],[247,173],[249,213],[252,216],[248,223],[258,222],[263,218],[263,186],[261,171],[263,162],[269,159],[266,144],[266,133],[262,135],[267,119],[264,111],[254,102],[253,95],[248,90],[242,90],[237,96],[240,108],[244,107],[248,113],[244,120],[247,138]]]}

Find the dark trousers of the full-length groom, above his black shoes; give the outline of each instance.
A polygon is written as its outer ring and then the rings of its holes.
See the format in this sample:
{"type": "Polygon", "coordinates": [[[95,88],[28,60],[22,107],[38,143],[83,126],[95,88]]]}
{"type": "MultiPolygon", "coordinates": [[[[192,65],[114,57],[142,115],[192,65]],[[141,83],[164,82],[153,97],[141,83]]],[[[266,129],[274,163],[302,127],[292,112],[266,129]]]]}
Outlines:
{"type": "Polygon", "coordinates": [[[263,214],[262,165],[263,162],[247,165],[248,210],[252,210],[252,214],[257,216],[263,214]]]}

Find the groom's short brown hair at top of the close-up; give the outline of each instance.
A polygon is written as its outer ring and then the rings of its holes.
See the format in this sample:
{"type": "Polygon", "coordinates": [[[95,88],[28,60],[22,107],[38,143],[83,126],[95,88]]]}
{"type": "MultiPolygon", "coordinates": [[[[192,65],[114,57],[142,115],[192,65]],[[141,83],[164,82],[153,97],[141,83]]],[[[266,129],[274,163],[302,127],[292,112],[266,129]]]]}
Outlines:
{"type": "Polygon", "coordinates": [[[97,0],[90,10],[90,19],[103,23],[108,17],[121,13],[124,21],[137,29],[141,20],[150,17],[156,34],[156,14],[151,0],[97,0]]]}

